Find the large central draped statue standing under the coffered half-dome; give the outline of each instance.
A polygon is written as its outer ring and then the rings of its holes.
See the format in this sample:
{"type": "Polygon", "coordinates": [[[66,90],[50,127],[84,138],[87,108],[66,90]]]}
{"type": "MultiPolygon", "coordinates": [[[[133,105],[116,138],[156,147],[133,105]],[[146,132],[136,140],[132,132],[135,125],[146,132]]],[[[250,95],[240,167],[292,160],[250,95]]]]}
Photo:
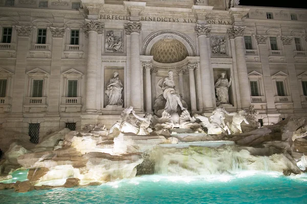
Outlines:
{"type": "Polygon", "coordinates": [[[162,89],[163,91],[162,95],[166,99],[166,104],[164,107],[165,111],[167,111],[168,113],[177,112],[178,105],[180,106],[181,110],[186,109],[183,107],[181,103],[181,97],[179,93],[175,91],[175,83],[173,80],[172,71],[168,72],[168,77],[165,77],[159,80],[158,86],[162,89]]]}

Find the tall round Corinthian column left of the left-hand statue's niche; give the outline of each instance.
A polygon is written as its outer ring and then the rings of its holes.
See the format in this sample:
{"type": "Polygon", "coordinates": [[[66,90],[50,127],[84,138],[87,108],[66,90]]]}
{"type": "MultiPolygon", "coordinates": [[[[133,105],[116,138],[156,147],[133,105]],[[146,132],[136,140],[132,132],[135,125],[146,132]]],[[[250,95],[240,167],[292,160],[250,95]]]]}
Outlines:
{"type": "Polygon", "coordinates": [[[103,33],[104,24],[98,20],[85,19],[84,32],[89,35],[86,65],[85,112],[96,113],[97,90],[97,36],[103,33]]]}

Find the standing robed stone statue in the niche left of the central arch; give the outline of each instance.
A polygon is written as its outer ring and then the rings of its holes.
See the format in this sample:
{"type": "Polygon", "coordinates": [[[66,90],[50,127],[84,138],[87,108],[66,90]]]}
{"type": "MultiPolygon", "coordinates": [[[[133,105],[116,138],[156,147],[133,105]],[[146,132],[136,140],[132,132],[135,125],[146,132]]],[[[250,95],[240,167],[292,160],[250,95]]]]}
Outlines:
{"type": "Polygon", "coordinates": [[[114,72],[114,77],[111,78],[110,82],[106,86],[105,93],[109,98],[108,105],[112,106],[122,106],[122,90],[123,85],[118,78],[119,73],[117,71],[114,72]]]}

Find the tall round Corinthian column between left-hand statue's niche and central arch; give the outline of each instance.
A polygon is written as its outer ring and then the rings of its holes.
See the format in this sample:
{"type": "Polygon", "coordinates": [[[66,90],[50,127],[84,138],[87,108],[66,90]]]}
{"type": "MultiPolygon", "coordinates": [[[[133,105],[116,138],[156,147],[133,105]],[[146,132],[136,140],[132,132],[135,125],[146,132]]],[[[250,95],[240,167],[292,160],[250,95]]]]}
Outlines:
{"type": "Polygon", "coordinates": [[[130,97],[131,106],[135,110],[142,110],[142,96],[141,96],[141,66],[140,66],[140,45],[139,36],[142,30],[142,23],[133,21],[125,24],[126,35],[130,35],[130,97]]]}

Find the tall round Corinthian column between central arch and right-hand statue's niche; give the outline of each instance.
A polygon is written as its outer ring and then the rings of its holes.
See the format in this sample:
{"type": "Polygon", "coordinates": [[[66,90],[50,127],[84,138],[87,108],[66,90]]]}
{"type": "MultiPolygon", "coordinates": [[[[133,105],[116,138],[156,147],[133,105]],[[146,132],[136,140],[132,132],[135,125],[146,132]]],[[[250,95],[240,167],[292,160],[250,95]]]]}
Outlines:
{"type": "Polygon", "coordinates": [[[195,33],[198,35],[199,50],[200,50],[200,75],[202,85],[202,104],[203,110],[213,109],[213,70],[211,67],[210,52],[211,46],[209,43],[210,25],[196,24],[195,33]]]}

